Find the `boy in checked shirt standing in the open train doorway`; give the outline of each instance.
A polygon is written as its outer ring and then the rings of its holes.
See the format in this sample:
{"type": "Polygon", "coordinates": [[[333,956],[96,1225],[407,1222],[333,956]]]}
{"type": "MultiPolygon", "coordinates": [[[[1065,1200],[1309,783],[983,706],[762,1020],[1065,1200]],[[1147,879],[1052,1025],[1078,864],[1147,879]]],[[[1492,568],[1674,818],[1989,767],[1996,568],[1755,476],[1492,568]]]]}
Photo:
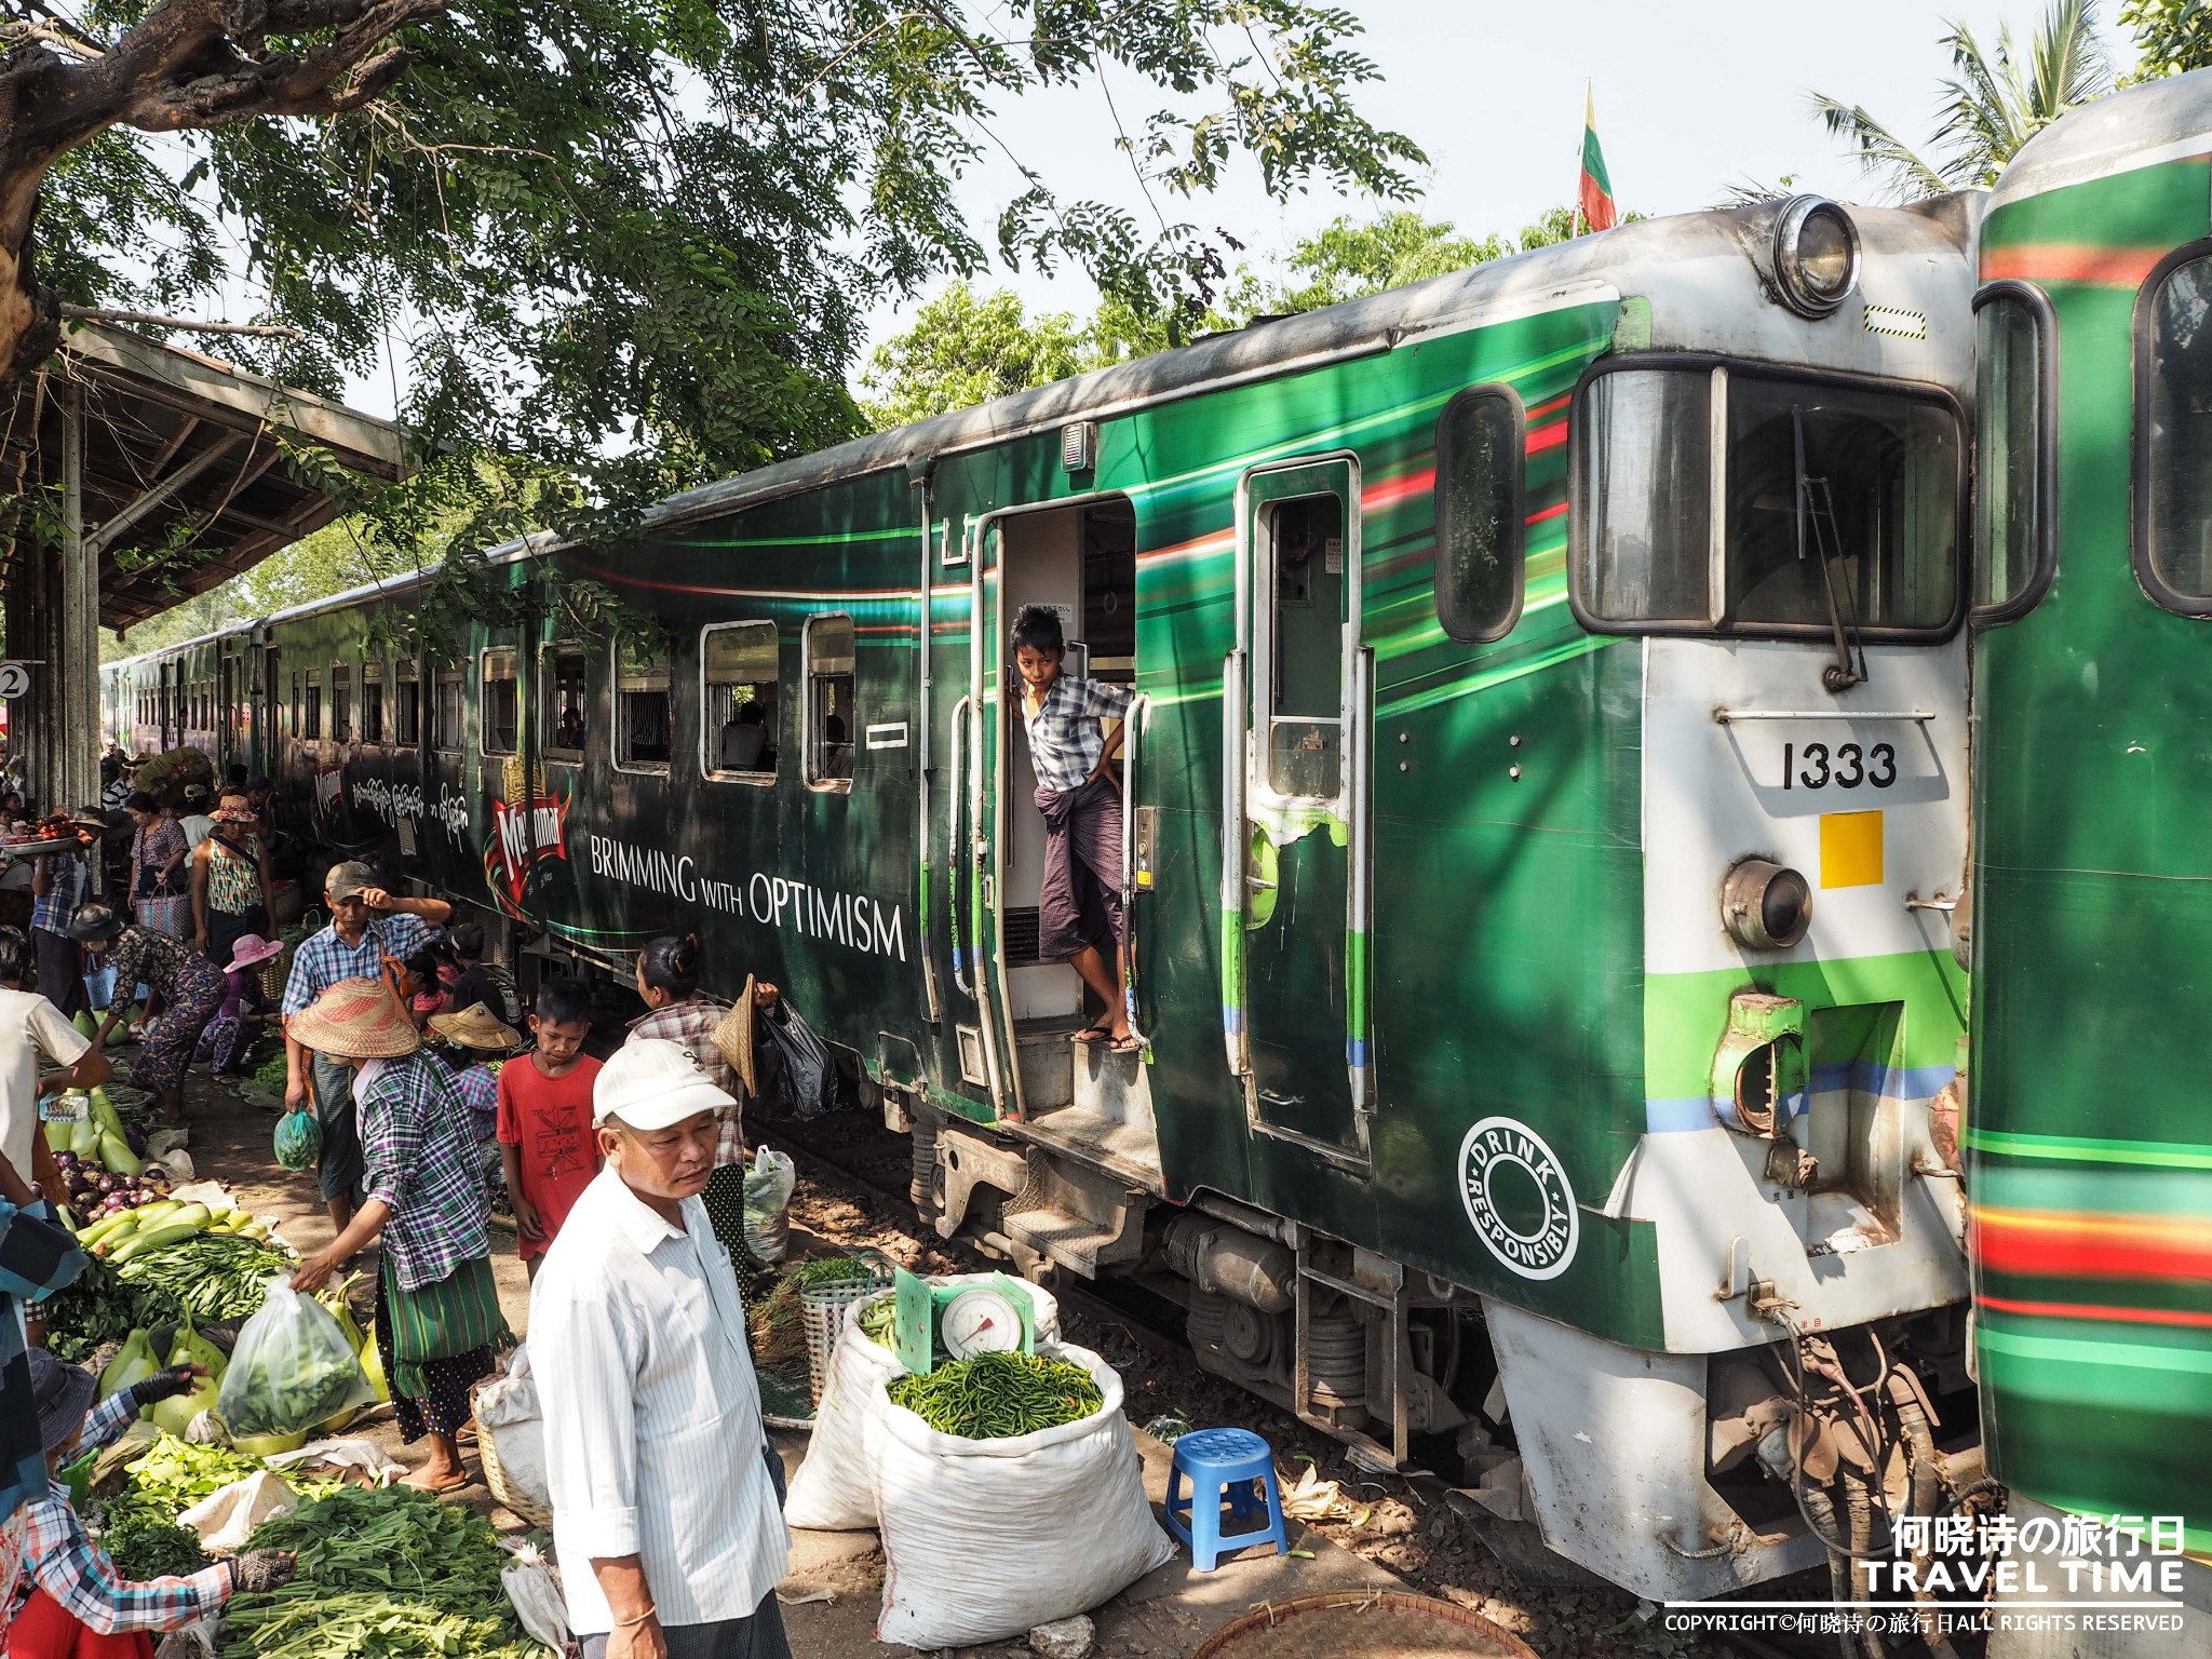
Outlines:
{"type": "Polygon", "coordinates": [[[1108,1042],[1126,1055],[1137,1053],[1137,1037],[1121,995],[1128,942],[1121,931],[1121,785],[1113,774],[1121,726],[1106,737],[1102,721],[1119,721],[1130,692],[1060,672],[1066,650],[1060,613],[1022,606],[1013,619],[1013,661],[1022,670],[1022,721],[1037,770],[1037,812],[1044,814],[1037,956],[1068,962],[1106,1004],[1104,1018],[1077,1031],[1075,1042],[1108,1042]]]}

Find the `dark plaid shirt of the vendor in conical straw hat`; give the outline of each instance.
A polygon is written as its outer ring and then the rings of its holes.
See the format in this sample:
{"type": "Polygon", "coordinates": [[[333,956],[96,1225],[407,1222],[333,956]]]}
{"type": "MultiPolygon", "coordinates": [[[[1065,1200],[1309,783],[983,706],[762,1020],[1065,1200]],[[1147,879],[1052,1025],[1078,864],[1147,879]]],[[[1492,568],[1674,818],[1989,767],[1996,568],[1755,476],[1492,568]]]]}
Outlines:
{"type": "Polygon", "coordinates": [[[491,1254],[484,1181],[476,1172],[476,1124],[453,1075],[416,1048],[365,1077],[361,1150],[367,1188],[392,1210],[385,1254],[400,1290],[422,1290],[491,1254]]]}

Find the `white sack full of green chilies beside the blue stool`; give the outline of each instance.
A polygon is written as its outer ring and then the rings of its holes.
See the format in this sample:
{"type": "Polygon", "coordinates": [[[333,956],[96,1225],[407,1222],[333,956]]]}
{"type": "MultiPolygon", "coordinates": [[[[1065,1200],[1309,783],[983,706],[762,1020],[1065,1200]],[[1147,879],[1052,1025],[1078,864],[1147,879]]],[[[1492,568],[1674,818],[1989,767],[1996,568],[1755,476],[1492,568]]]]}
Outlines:
{"type": "Polygon", "coordinates": [[[1018,1637],[1175,1555],[1144,1495],[1121,1378],[1091,1349],[1037,1343],[1035,1356],[978,1354],[876,1387],[878,1641],[1018,1637]]]}

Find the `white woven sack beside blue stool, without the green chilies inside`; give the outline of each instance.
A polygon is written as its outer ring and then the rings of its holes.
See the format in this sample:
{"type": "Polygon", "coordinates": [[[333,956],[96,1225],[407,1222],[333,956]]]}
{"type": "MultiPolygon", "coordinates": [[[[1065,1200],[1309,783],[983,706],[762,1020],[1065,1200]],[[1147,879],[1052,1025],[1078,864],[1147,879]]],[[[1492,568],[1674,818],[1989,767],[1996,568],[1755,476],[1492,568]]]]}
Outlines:
{"type": "Polygon", "coordinates": [[[1104,1405],[1057,1429],[962,1440],[885,1398],[869,1440],[887,1559],[876,1641],[1004,1641],[1088,1613],[1175,1555],[1144,1498],[1121,1378],[1086,1347],[1037,1352],[1091,1371],[1104,1405]]]}

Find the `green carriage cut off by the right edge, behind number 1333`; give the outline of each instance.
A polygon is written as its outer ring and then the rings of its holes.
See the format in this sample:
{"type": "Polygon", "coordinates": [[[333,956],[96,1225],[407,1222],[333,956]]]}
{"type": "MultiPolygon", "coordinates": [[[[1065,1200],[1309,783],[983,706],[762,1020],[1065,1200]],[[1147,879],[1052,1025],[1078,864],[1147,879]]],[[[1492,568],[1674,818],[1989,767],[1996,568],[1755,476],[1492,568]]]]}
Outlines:
{"type": "Polygon", "coordinates": [[[2183,1517],[2197,1562],[2168,1599],[2188,1635],[2081,1652],[2205,1655],[2212,73],[2026,144],[1980,274],[1966,1148],[1986,1453],[2022,1522],[2183,1517]]]}

